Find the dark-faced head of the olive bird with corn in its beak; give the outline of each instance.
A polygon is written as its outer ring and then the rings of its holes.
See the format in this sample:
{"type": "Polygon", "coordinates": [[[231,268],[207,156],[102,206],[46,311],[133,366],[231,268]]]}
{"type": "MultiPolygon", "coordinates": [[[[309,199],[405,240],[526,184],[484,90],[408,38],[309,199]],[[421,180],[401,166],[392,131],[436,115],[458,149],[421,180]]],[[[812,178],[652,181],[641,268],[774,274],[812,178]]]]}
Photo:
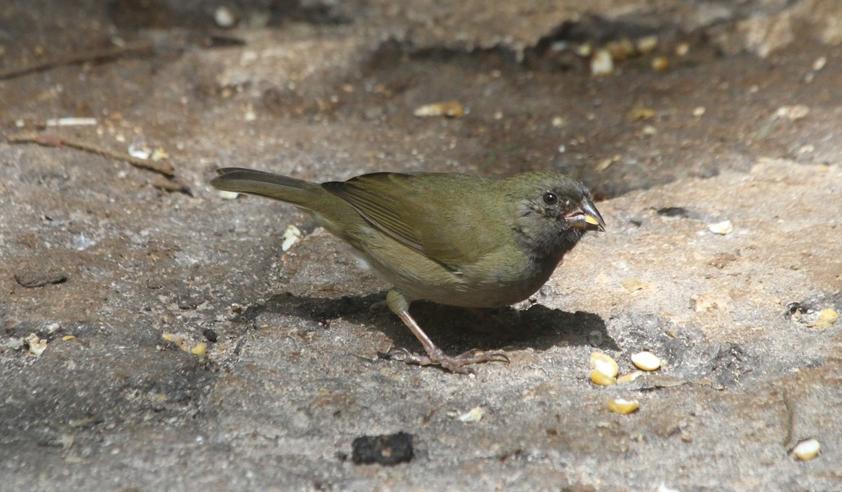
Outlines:
{"type": "Polygon", "coordinates": [[[588,230],[605,230],[605,221],[582,183],[561,176],[540,185],[540,191],[522,202],[516,221],[520,241],[537,257],[560,259],[588,230]]]}

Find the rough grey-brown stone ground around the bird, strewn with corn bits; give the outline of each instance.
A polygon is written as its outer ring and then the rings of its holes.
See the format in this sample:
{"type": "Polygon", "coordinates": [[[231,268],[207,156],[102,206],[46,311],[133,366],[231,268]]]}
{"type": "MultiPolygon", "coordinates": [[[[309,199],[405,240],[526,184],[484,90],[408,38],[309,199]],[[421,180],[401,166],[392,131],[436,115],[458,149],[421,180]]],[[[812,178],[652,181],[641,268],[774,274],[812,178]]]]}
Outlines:
{"type": "Polygon", "coordinates": [[[842,8],[580,4],[0,8],[0,490],[842,490],[842,8]],[[512,308],[413,304],[511,361],[446,373],[381,357],[420,350],[389,286],[232,166],[553,169],[607,231],[512,308]]]}

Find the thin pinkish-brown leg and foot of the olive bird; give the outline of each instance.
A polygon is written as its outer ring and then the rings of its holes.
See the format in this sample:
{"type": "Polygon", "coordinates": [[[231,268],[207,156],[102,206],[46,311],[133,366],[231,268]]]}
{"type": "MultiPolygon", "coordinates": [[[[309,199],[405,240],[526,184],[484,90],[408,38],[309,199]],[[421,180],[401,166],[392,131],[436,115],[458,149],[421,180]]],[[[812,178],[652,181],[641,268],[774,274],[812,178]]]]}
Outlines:
{"type": "Polygon", "coordinates": [[[442,368],[460,374],[471,373],[464,366],[479,362],[509,362],[509,357],[506,357],[505,354],[500,352],[477,353],[477,351],[472,350],[456,357],[450,357],[429,339],[429,336],[424,333],[418,322],[409,315],[409,301],[403,294],[394,289],[390,290],[389,294],[386,294],[386,304],[408,326],[409,330],[413,332],[413,335],[421,342],[424,352],[427,352],[427,355],[424,356],[409,352],[405,348],[393,348],[389,351],[390,354],[401,357],[403,362],[422,366],[438,364],[442,368]]]}

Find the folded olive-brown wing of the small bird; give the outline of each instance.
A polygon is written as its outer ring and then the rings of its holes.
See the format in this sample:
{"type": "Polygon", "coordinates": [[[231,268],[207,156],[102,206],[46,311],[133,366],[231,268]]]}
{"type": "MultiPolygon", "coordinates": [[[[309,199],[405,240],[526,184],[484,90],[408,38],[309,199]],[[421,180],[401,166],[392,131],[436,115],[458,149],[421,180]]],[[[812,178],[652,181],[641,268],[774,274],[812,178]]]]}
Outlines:
{"type": "Polygon", "coordinates": [[[453,175],[376,172],[322,187],[396,241],[436,262],[457,267],[476,262],[493,248],[477,229],[482,221],[466,214],[466,209],[474,209],[476,204],[465,206],[473,197],[464,194],[471,194],[473,188],[462,182],[453,175]]]}

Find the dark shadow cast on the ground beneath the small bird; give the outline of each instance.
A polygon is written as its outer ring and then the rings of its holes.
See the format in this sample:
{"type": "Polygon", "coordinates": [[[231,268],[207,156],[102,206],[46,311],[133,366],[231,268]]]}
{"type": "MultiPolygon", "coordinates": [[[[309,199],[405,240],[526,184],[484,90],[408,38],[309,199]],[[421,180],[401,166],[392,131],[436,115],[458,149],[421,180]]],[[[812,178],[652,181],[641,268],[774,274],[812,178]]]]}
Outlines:
{"type": "MultiPolygon", "coordinates": [[[[385,293],[339,298],[298,297],[293,294],[276,294],[265,304],[247,309],[239,316],[249,321],[263,311],[288,315],[329,325],[330,320],[344,318],[353,323],[373,325],[392,340],[395,347],[410,351],[420,350],[412,332],[397,315],[382,305],[385,293]],[[372,306],[375,306],[372,308],[372,306]]],[[[429,302],[414,302],[410,313],[427,335],[448,353],[461,353],[472,349],[522,350],[531,348],[544,351],[558,346],[601,347],[619,350],[606,331],[605,321],[599,315],[585,311],[568,313],[533,304],[528,309],[504,307],[497,309],[465,309],[429,302]]]]}

